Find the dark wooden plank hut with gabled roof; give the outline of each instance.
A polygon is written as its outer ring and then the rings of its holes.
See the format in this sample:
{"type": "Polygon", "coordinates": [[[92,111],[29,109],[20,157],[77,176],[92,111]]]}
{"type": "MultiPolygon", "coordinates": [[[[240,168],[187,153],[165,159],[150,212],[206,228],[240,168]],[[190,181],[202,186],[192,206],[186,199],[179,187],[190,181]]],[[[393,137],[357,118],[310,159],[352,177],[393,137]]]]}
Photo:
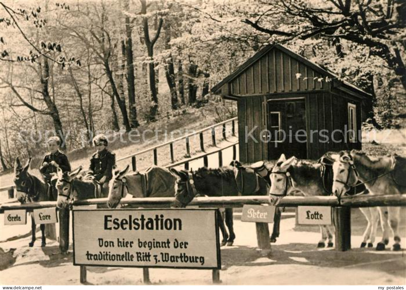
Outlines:
{"type": "Polygon", "coordinates": [[[371,95],[282,45],[261,49],[212,92],[237,101],[242,162],[361,149],[371,95]]]}

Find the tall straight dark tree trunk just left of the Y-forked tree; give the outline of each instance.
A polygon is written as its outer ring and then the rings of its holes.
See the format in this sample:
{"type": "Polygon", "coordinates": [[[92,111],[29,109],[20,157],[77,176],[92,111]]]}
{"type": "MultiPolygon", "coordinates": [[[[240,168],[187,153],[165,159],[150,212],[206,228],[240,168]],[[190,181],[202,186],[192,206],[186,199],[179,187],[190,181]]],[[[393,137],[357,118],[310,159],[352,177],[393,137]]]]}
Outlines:
{"type": "MultiPolygon", "coordinates": [[[[124,4],[126,11],[130,10],[130,0],[126,0],[124,4]]],[[[130,126],[137,128],[140,126],[137,120],[137,108],[135,102],[135,76],[134,76],[134,57],[132,51],[132,28],[130,17],[125,17],[125,59],[127,63],[127,90],[128,90],[128,109],[130,112],[130,126]]]]}

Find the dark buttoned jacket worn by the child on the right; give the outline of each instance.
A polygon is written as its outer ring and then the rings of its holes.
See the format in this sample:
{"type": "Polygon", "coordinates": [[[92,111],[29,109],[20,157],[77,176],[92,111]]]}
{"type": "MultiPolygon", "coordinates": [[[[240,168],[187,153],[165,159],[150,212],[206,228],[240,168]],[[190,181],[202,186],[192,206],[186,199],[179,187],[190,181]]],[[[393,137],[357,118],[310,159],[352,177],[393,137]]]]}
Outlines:
{"type": "Polygon", "coordinates": [[[101,180],[106,176],[106,181],[111,180],[113,174],[113,166],[116,163],[116,155],[107,149],[102,152],[93,154],[90,160],[89,174],[92,174],[97,180],[101,180]]]}

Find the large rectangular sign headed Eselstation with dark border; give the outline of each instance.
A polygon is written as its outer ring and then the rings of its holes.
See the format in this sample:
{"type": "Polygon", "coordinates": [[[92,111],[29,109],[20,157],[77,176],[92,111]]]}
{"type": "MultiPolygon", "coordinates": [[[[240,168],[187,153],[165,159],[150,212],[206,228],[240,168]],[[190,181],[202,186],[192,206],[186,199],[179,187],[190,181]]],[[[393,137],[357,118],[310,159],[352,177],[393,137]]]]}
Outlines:
{"type": "Polygon", "coordinates": [[[216,209],[73,210],[73,264],[220,269],[216,209]]]}

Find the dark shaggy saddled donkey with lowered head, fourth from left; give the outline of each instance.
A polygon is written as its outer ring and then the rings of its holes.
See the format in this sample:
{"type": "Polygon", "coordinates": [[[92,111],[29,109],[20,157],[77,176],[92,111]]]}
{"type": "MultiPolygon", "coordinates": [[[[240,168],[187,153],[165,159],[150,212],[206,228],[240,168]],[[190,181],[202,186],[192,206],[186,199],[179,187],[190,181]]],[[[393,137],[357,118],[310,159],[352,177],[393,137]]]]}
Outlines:
{"type": "MultiPolygon", "coordinates": [[[[237,195],[266,195],[268,194],[269,184],[264,178],[258,179],[256,190],[253,192],[241,192],[235,180],[235,168],[225,166],[216,169],[206,167],[199,168],[197,171],[177,171],[170,169],[172,173],[179,177],[177,190],[175,193],[175,204],[185,207],[199,193],[211,197],[237,196],[237,195]]],[[[244,190],[243,190],[244,191],[244,190]]],[[[226,224],[229,229],[227,246],[232,246],[235,240],[233,230],[232,209],[226,209],[226,224]]]]}

